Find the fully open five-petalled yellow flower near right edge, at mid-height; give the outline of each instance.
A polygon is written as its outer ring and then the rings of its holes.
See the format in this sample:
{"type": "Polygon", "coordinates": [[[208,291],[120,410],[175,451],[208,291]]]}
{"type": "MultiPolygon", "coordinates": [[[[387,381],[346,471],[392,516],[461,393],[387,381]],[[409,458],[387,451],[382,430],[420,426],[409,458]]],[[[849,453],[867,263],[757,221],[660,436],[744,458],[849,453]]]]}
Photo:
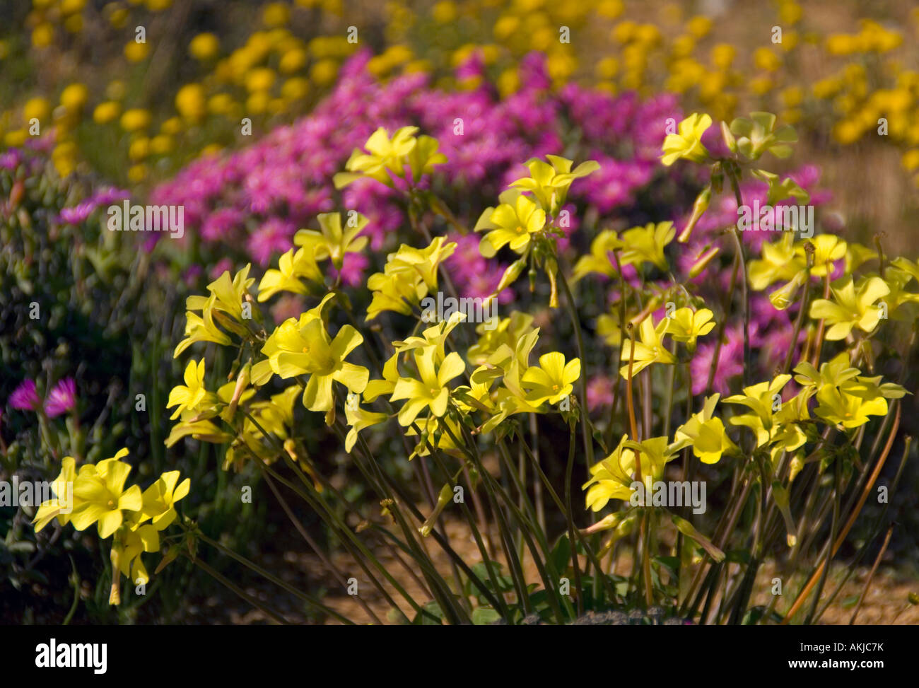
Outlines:
{"type": "Polygon", "coordinates": [[[845,339],[853,327],[864,332],[878,327],[882,313],[876,302],[889,294],[891,288],[885,281],[874,276],[860,281],[856,289],[852,276],[847,275],[834,282],[832,291],[833,300],[815,299],[809,314],[814,319],[825,320],[831,326],[826,331],[828,341],[845,339]]]}

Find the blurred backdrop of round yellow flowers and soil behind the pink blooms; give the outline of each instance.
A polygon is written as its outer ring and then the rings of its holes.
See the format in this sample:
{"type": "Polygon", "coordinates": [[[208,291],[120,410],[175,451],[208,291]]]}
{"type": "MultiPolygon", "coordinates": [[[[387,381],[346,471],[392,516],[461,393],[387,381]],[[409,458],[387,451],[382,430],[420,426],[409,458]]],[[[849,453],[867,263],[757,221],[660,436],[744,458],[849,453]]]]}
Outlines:
{"type": "Polygon", "coordinates": [[[716,120],[777,112],[809,159],[838,163],[826,181],[864,233],[904,242],[915,210],[919,8],[908,2],[10,0],[0,12],[0,141],[24,143],[38,118],[62,174],[165,178],[243,143],[244,117],[257,136],[308,112],[358,47],[377,75],[423,70],[437,86],[464,86],[452,68],[481,50],[504,94],[539,51],[557,86],[673,92],[716,120]]]}

